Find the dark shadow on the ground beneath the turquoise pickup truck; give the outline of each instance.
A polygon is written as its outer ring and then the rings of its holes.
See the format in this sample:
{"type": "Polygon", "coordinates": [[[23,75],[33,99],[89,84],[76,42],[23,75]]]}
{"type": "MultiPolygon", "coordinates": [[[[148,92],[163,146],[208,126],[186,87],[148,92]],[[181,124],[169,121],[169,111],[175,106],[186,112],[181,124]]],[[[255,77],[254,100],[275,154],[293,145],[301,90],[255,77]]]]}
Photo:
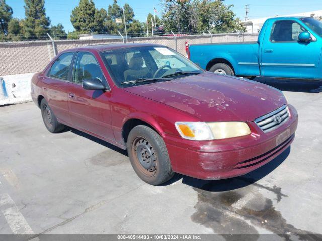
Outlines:
{"type": "Polygon", "coordinates": [[[322,92],[322,80],[275,79],[257,77],[254,79],[254,81],[270,85],[282,91],[303,93],[322,92]]]}

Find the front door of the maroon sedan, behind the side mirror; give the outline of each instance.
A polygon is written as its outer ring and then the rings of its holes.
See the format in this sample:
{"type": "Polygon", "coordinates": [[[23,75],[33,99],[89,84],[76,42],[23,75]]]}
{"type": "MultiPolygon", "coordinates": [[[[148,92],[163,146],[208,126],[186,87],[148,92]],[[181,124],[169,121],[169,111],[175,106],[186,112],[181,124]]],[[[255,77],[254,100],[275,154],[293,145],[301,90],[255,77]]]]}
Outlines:
{"type": "Polygon", "coordinates": [[[84,79],[106,79],[96,57],[89,52],[78,52],[72,71],[72,81],[68,86],[69,114],[74,127],[114,141],[111,121],[111,92],[86,90],[84,79]]]}

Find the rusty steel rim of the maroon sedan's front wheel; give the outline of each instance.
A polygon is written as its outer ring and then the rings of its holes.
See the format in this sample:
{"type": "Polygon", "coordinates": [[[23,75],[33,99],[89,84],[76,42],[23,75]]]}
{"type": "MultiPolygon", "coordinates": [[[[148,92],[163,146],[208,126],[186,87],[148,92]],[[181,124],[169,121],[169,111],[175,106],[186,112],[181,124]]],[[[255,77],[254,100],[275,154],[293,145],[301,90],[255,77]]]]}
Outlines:
{"type": "Polygon", "coordinates": [[[137,137],[132,143],[132,154],[136,166],[147,176],[153,176],[157,169],[157,158],[155,151],[143,137],[137,137]]]}

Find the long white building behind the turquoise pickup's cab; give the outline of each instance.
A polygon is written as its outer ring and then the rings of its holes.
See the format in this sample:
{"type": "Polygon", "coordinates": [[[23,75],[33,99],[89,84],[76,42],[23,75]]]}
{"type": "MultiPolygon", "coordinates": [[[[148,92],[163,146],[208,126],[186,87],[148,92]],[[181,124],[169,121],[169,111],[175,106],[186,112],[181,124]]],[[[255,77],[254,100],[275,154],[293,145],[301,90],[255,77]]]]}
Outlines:
{"type": "Polygon", "coordinates": [[[314,18],[318,18],[322,16],[322,10],[316,10],[316,11],[311,11],[311,12],[305,12],[305,13],[297,13],[297,14],[288,14],[288,15],[276,15],[276,16],[271,16],[271,17],[266,17],[266,18],[260,18],[260,19],[249,19],[245,23],[247,33],[259,33],[264,22],[273,17],[291,17],[291,16],[303,16],[303,17],[311,17],[314,16],[314,18]]]}

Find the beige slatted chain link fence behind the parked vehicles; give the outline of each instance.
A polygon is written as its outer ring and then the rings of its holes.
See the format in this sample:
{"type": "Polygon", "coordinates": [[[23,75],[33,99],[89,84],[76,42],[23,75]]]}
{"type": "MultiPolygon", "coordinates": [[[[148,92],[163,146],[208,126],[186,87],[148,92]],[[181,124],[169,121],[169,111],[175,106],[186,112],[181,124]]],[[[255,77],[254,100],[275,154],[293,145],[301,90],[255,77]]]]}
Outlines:
{"type": "MultiPolygon", "coordinates": [[[[208,34],[129,38],[128,43],[152,43],[168,46],[185,55],[185,42],[190,44],[256,41],[258,34],[208,34]]],[[[122,39],[50,40],[0,43],[0,76],[32,73],[44,69],[48,62],[66,49],[98,44],[123,43],[122,39]]]]}

